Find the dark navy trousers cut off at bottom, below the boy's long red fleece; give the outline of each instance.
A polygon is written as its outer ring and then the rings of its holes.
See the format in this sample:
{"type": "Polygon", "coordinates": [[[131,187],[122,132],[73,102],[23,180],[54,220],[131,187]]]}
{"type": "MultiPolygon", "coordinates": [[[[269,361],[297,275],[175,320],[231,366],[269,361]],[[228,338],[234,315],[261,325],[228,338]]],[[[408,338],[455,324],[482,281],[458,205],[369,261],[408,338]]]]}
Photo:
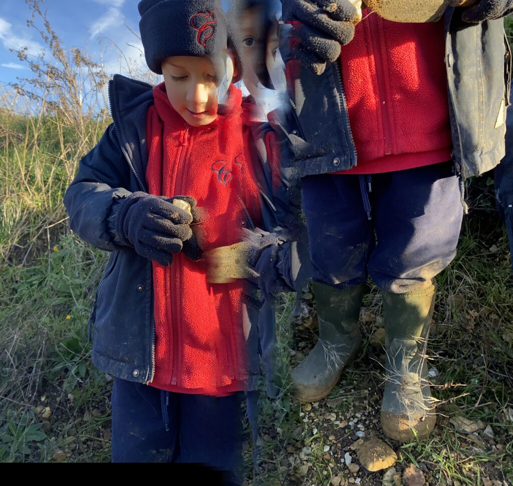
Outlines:
{"type": "Polygon", "coordinates": [[[182,462],[226,471],[240,484],[244,393],[170,393],[115,378],[112,462],[182,462]]]}

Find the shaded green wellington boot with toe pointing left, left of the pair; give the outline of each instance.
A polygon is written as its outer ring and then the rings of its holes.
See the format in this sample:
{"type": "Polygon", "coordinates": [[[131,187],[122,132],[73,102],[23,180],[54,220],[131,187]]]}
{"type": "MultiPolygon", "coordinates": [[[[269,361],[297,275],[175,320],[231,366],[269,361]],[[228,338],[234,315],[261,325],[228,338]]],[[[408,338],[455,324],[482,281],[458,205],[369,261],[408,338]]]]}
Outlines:
{"type": "Polygon", "coordinates": [[[362,336],[358,325],[364,285],[343,290],[313,283],[319,318],[319,340],[292,372],[296,396],[302,402],[324,398],[342,370],[357,355],[362,336]]]}

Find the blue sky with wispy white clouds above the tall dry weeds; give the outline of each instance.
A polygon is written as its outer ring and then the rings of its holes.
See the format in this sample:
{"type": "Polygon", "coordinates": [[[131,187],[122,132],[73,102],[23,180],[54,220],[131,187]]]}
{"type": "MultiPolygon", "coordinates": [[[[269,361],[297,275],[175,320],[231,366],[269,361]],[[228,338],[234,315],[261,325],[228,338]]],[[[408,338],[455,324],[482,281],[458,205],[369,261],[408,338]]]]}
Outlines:
{"type": "MultiPolygon", "coordinates": [[[[53,30],[67,48],[87,47],[95,61],[100,61],[103,51],[104,64],[108,72],[114,73],[122,72],[126,63],[112,42],[133,63],[145,66],[141,43],[129,30],[139,34],[138,3],[138,0],[45,0],[41,8],[47,10],[53,30]]],[[[30,74],[9,48],[27,46],[29,53],[35,54],[44,47],[40,34],[27,27],[30,17],[25,2],[0,0],[0,84],[30,74]]]]}

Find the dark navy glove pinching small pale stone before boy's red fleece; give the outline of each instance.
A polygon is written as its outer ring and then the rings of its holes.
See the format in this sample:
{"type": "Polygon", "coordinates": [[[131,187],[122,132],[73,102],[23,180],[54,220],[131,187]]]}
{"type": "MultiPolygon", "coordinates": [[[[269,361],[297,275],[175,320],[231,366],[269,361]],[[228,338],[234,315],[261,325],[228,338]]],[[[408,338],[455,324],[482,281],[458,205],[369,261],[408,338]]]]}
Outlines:
{"type": "MultiPolygon", "coordinates": [[[[194,201],[195,202],[195,201],[194,201]]],[[[192,217],[169,198],[132,192],[121,204],[116,231],[123,244],[161,265],[170,265],[173,253],[192,237],[192,217]]]]}

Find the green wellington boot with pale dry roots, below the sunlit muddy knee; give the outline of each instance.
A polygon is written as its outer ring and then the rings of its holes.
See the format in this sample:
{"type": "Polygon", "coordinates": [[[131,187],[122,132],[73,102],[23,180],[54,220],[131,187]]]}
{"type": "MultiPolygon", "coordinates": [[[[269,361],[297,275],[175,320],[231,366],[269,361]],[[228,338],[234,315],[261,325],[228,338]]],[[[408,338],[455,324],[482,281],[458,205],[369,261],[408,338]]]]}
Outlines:
{"type": "Polygon", "coordinates": [[[392,439],[425,437],[436,423],[425,359],[435,306],[435,285],[405,294],[383,291],[385,392],[381,425],[392,439]]]}

